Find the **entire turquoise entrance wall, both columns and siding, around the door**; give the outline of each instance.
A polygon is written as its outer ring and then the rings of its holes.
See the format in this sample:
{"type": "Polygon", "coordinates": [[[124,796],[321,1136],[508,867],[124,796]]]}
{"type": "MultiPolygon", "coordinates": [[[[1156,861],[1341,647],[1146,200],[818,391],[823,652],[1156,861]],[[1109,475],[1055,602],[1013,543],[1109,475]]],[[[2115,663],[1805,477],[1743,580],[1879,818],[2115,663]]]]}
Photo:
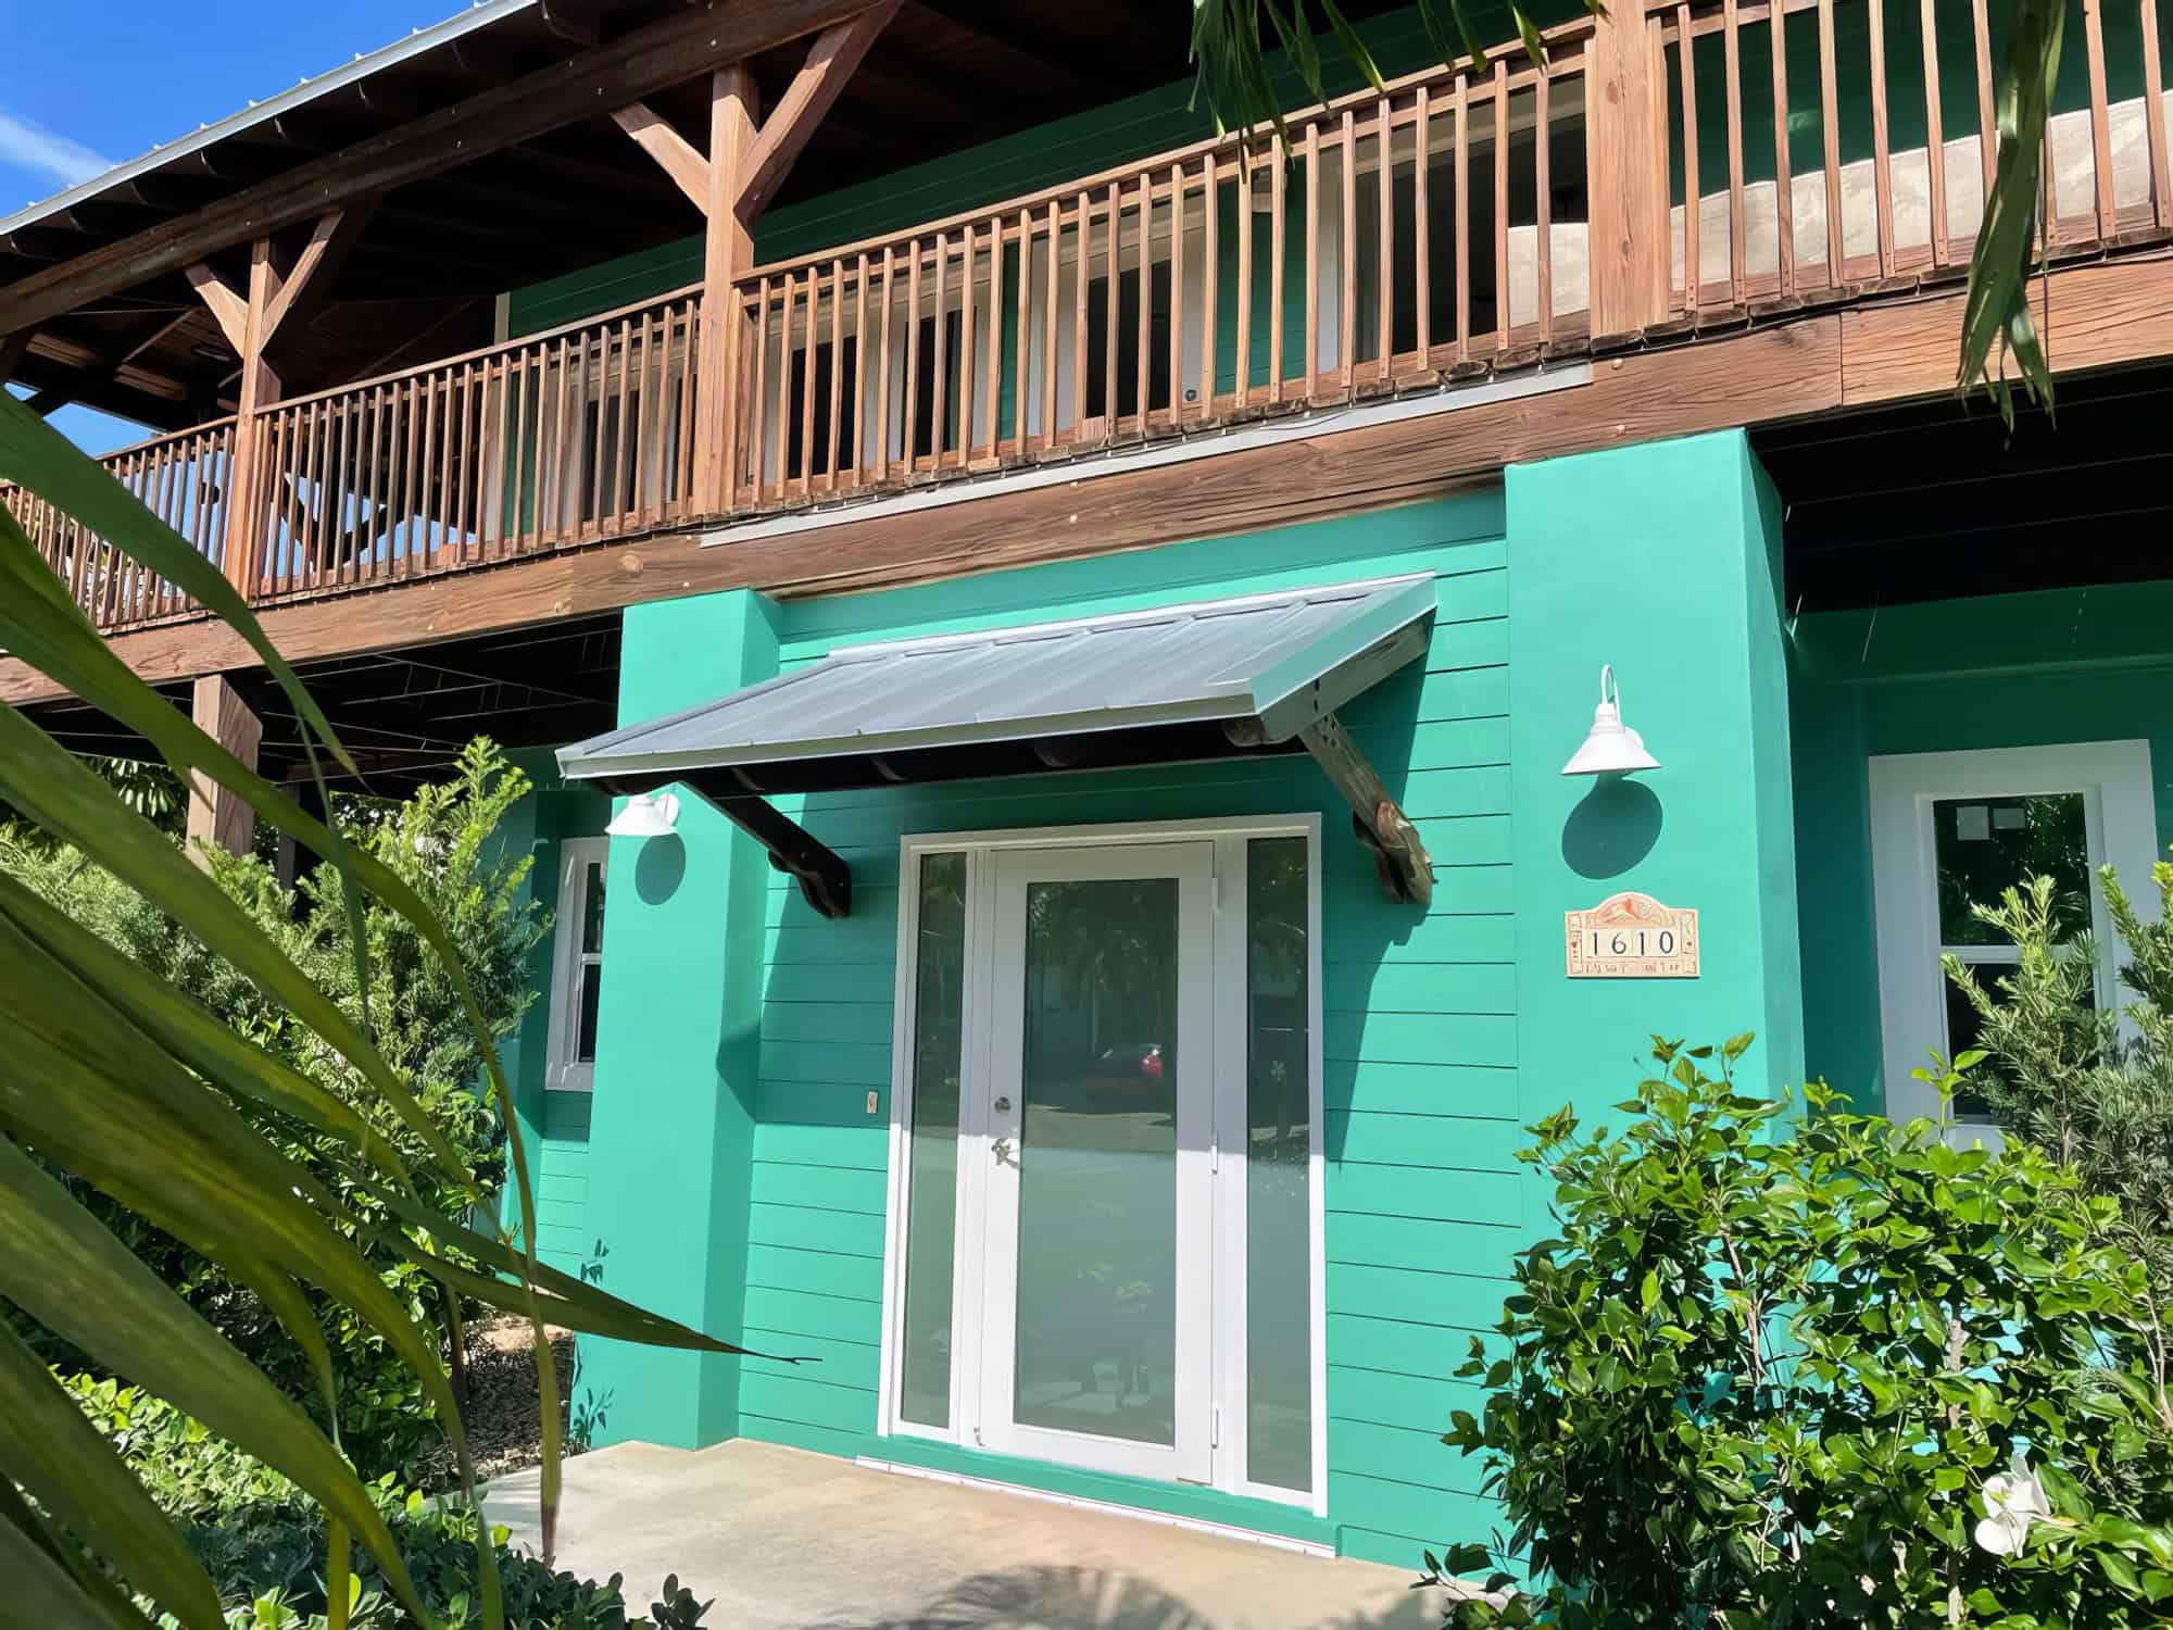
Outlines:
{"type": "Polygon", "coordinates": [[[602,1441],[743,1432],[1332,1539],[1397,1565],[1484,1537],[1497,1510],[1439,1434],[1475,1402],[1452,1374],[1499,1317],[1510,1254],[1545,1228],[1543,1191],[1515,1161],[1521,1124],[1565,1098],[1619,1098],[1651,1030],[1756,1028],[1758,1080],[1795,1071],[1771,535],[1771,493],[1743,437],[1725,435],[1343,522],[869,595],[630,611],[621,717],[643,719],[867,639],[1434,569],[1425,663],[1345,722],[1419,822],[1439,889],[1430,913],[1391,906],[1304,758],[778,800],[852,863],[845,921],[815,917],[700,800],[678,839],[615,841],[589,1189],[604,1282],[817,1363],[585,1343],[602,1441]],[[1608,654],[1667,763],[1649,778],[1654,830],[1643,804],[1580,813],[1586,789],[1558,776],[1608,654]],[[1328,1521],[878,1437],[900,835],[1293,811],[1321,811],[1328,832],[1328,1521]],[[1619,887],[1706,913],[1704,980],[1560,976],[1560,911],[1619,887]]]}

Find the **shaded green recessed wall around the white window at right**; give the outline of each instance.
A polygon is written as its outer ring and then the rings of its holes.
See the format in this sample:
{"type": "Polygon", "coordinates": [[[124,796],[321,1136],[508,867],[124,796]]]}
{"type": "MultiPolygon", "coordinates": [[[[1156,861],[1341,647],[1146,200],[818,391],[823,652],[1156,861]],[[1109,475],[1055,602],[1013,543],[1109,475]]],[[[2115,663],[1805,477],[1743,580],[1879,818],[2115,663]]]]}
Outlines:
{"type": "Polygon", "coordinates": [[[2173,839],[2173,585],[1836,611],[1795,626],[1791,661],[1806,1065],[1877,1108],[1864,761],[2140,737],[2173,839]]]}

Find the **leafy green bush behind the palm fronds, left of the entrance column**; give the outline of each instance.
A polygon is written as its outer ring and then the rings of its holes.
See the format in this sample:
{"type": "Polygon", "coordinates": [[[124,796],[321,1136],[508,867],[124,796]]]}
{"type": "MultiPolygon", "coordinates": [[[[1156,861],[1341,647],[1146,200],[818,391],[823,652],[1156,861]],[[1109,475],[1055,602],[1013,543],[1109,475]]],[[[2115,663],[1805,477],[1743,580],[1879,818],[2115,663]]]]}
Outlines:
{"type": "MultiPolygon", "coordinates": [[[[335,795],[339,806],[335,815],[350,841],[402,876],[452,935],[493,1041],[513,1032],[532,1000],[528,954],[548,928],[541,906],[522,900],[528,856],[493,854],[498,824],[526,793],[528,778],[493,743],[478,739],[461,754],[456,774],[448,782],[424,787],[393,808],[335,795]]],[[[263,935],[350,1017],[361,1019],[363,987],[356,978],[341,874],[326,867],[304,876],[300,887],[289,891],[259,858],[211,852],[209,863],[226,893],[248,908],[263,935]]],[[[135,961],[156,969],[265,1052],[339,1093],[417,1174],[419,1200],[430,1211],[454,1215],[465,1211],[461,1191],[435,1174],[422,1139],[369,1089],[348,1058],[143,895],[67,848],[0,839],[0,867],[135,961]]],[[[415,1098],[448,1137],[459,1161],[474,1171],[478,1187],[491,1191],[504,1178],[504,1128],[495,1106],[476,1091],[482,1048],[454,985],[445,978],[437,952],[398,911],[365,900],[361,919],[369,969],[367,1013],[378,1052],[411,1082],[415,1098]]],[[[372,1239],[389,1217],[380,1202],[348,1180],[352,1163],[343,1158],[346,1150],[332,1139],[300,1134],[293,1124],[278,1121],[254,1104],[239,1108],[285,1154],[304,1163],[341,1198],[346,1206],[341,1232],[382,1271],[409,1317],[443,1337],[439,1289],[395,1250],[372,1239]]],[[[272,1308],[202,1254],[135,1213],[83,1184],[70,1187],[159,1278],[180,1291],[291,1397],[315,1410],[317,1391],[309,1361],[272,1308]]],[[[354,1311],[317,1293],[309,1300],[341,1378],[343,1447],[365,1476],[411,1469],[415,1454],[435,1437],[422,1382],[354,1311]]],[[[30,1328],[24,1334],[48,1363],[70,1371],[85,1367],[80,1354],[52,1337],[30,1328]]]]}

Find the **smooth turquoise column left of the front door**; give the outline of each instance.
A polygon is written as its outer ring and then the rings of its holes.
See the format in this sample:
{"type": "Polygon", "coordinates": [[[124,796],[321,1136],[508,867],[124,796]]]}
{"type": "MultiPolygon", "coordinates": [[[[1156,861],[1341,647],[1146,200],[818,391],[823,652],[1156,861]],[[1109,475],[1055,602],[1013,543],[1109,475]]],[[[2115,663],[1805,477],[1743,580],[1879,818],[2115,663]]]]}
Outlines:
{"type": "MultiPolygon", "coordinates": [[[[619,722],[776,672],[776,604],[758,593],[635,606],[619,722]]],[[[769,878],[763,850],[684,789],[676,837],[611,839],[589,1143],[602,1284],[724,1341],[741,1332],[769,878]]],[[[602,1410],[598,1443],[717,1443],[739,1428],[739,1365],[582,1341],[574,1404],[602,1410]]]]}

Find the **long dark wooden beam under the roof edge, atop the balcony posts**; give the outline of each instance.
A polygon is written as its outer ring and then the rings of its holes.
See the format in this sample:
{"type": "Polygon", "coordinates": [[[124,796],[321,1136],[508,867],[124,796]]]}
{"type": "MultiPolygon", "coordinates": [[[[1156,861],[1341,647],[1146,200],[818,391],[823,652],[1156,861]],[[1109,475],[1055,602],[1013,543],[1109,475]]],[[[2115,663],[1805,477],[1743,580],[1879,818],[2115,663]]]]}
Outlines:
{"type": "Polygon", "coordinates": [[[454,170],[626,106],[719,63],[828,28],[867,0],[708,0],[563,63],[426,113],[398,130],[304,161],[269,180],[159,222],[0,289],[0,328],[30,328],[91,300],[180,272],[219,250],[317,220],[372,193],[454,170]]]}

